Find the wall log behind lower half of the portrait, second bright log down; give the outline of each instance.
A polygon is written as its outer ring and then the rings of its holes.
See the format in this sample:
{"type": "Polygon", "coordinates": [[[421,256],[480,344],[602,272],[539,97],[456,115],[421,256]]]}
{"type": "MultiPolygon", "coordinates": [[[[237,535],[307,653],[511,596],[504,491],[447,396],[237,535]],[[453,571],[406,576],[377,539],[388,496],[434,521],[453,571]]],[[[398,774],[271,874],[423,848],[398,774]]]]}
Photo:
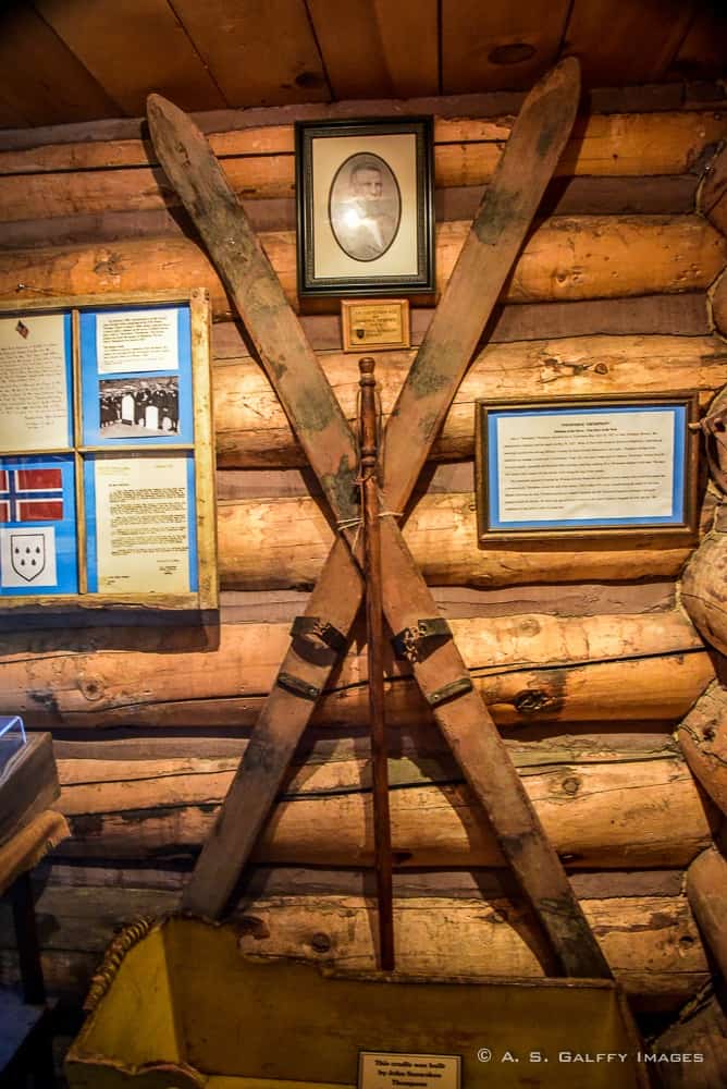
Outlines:
{"type": "MultiPolygon", "coordinates": [[[[469,223],[438,229],[438,291],[459,255],[469,223]]],[[[296,302],[295,237],[260,235],[287,297],[296,302]]],[[[504,298],[547,302],[618,298],[707,287],[727,260],[727,238],[698,216],[556,217],[530,236],[504,298]]],[[[209,290],[217,319],[232,316],[204,252],[186,238],[120,241],[0,253],[0,298],[22,306],[38,289],[54,295],[151,292],[194,284],[209,290]]],[[[336,308],[334,304],[331,304],[336,308]]]]}

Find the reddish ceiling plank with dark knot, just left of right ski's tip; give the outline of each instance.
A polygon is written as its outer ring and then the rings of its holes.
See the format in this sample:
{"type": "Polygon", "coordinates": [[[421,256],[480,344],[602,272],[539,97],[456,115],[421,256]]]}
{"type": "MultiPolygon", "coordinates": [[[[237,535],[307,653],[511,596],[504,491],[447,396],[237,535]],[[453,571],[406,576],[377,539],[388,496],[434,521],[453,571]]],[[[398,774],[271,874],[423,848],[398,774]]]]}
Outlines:
{"type": "Polygon", "coordinates": [[[568,0],[442,0],[442,91],[531,86],[555,61],[568,0]]]}

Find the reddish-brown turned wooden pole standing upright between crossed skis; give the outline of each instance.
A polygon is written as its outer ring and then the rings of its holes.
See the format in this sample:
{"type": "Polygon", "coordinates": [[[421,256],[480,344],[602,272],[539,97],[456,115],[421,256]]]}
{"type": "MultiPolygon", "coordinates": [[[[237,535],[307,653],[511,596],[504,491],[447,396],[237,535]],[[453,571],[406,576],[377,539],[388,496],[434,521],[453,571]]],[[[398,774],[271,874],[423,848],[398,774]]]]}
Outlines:
{"type": "Polygon", "coordinates": [[[361,524],[366,577],[366,633],[369,656],[369,715],[371,720],[371,780],[373,794],[373,844],[379,905],[379,957],[384,971],[394,970],[394,907],[392,894],[392,843],[389,818],[389,768],[384,721],[384,625],[381,579],[381,527],[374,362],[359,360],[361,524]]]}

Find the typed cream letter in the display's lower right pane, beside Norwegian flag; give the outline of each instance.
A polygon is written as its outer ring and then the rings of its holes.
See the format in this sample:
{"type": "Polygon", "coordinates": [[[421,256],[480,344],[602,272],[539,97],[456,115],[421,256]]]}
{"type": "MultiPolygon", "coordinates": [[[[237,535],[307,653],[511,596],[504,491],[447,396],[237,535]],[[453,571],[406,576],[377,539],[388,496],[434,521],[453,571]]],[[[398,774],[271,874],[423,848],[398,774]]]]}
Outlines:
{"type": "Polygon", "coordinates": [[[96,461],[101,594],[189,590],[186,457],[96,461]]]}

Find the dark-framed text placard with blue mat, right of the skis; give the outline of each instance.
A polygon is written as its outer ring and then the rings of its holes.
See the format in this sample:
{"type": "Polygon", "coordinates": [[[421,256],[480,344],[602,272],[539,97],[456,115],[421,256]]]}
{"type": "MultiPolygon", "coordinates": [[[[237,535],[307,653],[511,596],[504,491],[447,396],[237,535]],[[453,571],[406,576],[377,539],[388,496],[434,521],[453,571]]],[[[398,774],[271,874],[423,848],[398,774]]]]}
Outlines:
{"type": "Polygon", "coordinates": [[[691,392],[478,401],[480,542],[697,531],[691,392]]]}

